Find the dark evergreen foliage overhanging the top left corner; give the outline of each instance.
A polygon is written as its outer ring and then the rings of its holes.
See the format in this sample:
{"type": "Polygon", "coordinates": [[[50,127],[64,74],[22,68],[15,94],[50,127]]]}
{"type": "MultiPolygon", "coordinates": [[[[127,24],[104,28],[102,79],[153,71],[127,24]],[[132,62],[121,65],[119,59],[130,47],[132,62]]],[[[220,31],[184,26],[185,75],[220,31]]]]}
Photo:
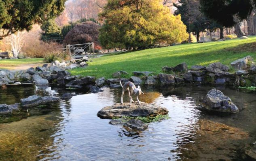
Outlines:
{"type": "Polygon", "coordinates": [[[64,10],[66,0],[0,0],[0,39],[34,23],[52,19],[64,10]]]}

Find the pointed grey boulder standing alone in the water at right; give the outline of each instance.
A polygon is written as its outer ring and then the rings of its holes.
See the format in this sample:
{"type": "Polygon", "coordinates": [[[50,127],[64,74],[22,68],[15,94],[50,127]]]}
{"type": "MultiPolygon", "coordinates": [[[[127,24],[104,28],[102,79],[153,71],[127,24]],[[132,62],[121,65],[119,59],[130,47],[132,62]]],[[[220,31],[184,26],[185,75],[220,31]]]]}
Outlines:
{"type": "Polygon", "coordinates": [[[203,99],[204,107],[220,112],[239,112],[237,106],[231,101],[229,97],[226,97],[221,91],[212,89],[207,93],[203,99]]]}

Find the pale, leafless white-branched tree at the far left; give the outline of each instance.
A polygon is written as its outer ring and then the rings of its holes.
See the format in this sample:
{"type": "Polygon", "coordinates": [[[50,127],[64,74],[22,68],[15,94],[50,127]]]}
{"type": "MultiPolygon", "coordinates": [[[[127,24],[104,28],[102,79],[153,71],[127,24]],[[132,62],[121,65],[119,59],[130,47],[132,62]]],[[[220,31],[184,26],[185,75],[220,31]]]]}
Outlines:
{"type": "Polygon", "coordinates": [[[21,50],[21,47],[24,44],[23,41],[24,32],[17,31],[16,34],[12,34],[8,37],[6,37],[7,44],[11,45],[11,48],[13,50],[13,57],[17,58],[19,51],[21,50]]]}

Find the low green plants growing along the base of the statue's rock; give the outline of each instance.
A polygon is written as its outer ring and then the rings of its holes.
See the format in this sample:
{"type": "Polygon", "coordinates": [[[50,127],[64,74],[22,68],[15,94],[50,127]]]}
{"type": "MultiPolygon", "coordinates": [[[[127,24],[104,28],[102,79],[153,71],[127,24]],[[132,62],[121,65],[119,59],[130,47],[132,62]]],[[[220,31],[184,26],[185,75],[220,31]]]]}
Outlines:
{"type": "Polygon", "coordinates": [[[158,122],[161,120],[168,120],[170,117],[168,115],[157,115],[157,116],[148,116],[148,117],[130,117],[130,116],[124,116],[122,118],[113,118],[113,119],[121,119],[122,122],[128,122],[131,119],[137,119],[144,123],[150,123],[150,122],[158,122]]]}

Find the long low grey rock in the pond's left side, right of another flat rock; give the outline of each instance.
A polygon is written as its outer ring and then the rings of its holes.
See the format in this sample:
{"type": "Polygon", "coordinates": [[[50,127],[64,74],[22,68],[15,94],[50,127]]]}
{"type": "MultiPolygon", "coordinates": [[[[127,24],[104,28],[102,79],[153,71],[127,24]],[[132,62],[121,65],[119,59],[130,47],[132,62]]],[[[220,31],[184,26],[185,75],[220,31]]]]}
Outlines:
{"type": "Polygon", "coordinates": [[[51,103],[56,101],[59,101],[59,99],[55,97],[51,97],[51,96],[41,97],[38,95],[32,95],[28,98],[21,99],[21,106],[32,107],[32,106],[42,105],[45,103],[51,103]]]}

